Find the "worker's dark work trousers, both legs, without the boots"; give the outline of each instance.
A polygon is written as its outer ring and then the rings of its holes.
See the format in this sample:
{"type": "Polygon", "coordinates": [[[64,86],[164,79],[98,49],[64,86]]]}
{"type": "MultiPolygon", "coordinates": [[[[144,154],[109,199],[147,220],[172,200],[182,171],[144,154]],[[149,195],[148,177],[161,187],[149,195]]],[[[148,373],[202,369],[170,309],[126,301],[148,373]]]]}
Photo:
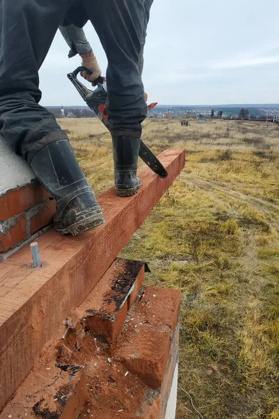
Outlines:
{"type": "Polygon", "coordinates": [[[112,134],[140,136],[147,110],[139,67],[152,1],[0,0],[0,133],[17,154],[30,162],[66,136],[38,105],[38,69],[73,3],[91,20],[107,54],[112,134]]]}

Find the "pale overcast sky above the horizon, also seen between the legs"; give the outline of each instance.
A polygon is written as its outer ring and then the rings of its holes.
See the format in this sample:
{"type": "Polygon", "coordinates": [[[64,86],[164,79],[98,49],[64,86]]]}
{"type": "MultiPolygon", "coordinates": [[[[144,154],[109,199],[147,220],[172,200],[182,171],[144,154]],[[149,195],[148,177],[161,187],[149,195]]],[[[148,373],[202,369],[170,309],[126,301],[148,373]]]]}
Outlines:
{"type": "MultiPolygon", "coordinates": [[[[86,36],[105,75],[107,60],[91,24],[86,36]]],[[[279,103],[279,1],[154,0],[143,81],[149,101],[161,105],[279,103]]],[[[56,35],[40,70],[42,105],[82,105],[66,73],[68,59],[56,35]]]]}

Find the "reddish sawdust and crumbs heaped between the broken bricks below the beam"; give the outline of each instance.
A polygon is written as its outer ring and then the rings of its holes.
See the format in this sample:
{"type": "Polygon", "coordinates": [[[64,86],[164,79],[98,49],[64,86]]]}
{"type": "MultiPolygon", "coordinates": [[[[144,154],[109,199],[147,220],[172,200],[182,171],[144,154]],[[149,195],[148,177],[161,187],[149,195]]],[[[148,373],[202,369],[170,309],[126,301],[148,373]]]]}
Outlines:
{"type": "Polygon", "coordinates": [[[61,340],[57,346],[56,360],[59,367],[68,367],[69,362],[70,365],[85,365],[89,402],[79,418],[97,417],[92,416],[97,410],[102,417],[102,409],[142,413],[142,404],[149,392],[148,386],[130,374],[123,362],[112,357],[106,349],[107,346],[93,337],[90,331],[86,331],[84,337],[77,340],[75,329],[70,330],[66,339],[61,340]],[[90,413],[87,413],[88,410],[90,413]]]}

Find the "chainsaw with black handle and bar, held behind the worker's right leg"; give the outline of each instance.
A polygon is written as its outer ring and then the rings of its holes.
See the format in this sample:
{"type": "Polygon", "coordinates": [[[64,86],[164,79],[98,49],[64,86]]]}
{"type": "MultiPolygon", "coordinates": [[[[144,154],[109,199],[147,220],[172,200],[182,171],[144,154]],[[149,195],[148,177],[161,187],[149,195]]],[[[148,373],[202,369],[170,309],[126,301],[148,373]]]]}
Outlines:
{"type": "MultiPolygon", "coordinates": [[[[92,91],[90,89],[87,89],[87,87],[85,87],[84,84],[82,84],[82,82],[80,82],[80,80],[77,79],[77,75],[78,73],[80,73],[80,71],[86,71],[86,73],[88,73],[89,75],[92,74],[89,68],[80,66],[77,67],[75,71],[73,71],[73,73],[68,73],[67,77],[73,83],[80,96],[82,96],[83,100],[86,102],[89,108],[96,113],[96,116],[103,122],[106,128],[110,131],[108,115],[105,105],[107,101],[107,83],[105,81],[105,78],[103,78],[102,76],[98,77],[94,81],[97,88],[92,91]]],[[[156,105],[157,103],[151,103],[148,109],[151,110],[156,105]]],[[[151,170],[153,170],[153,172],[155,172],[159,177],[167,177],[167,170],[165,170],[162,163],[160,163],[155,154],[151,152],[149,147],[147,147],[147,145],[145,145],[142,140],[140,140],[139,156],[144,161],[144,163],[146,163],[146,165],[149,166],[149,168],[151,168],[151,170]]]]}

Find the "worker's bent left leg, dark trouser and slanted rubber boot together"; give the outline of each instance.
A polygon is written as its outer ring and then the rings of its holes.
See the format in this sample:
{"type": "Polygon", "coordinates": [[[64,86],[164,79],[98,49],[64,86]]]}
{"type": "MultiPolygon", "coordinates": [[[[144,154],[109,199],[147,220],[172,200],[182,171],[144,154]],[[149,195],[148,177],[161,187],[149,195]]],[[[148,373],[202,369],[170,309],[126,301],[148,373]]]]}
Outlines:
{"type": "Polygon", "coordinates": [[[103,223],[66,133],[38,105],[38,69],[71,3],[0,1],[0,133],[56,199],[54,227],[61,234],[103,223]]]}

